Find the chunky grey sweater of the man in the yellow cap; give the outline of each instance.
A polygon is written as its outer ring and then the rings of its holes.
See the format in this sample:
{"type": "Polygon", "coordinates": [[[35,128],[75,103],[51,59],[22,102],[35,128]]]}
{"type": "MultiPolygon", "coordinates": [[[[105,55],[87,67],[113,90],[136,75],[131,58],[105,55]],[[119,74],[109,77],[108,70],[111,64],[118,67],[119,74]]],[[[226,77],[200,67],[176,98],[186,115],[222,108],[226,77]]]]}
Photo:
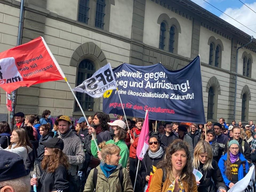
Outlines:
{"type": "Polygon", "coordinates": [[[72,130],[69,130],[69,133],[64,138],[62,138],[61,134],[58,137],[63,139],[63,153],[69,159],[71,175],[76,175],[77,166],[85,161],[82,142],[77,135],[74,135],[72,130]]]}

